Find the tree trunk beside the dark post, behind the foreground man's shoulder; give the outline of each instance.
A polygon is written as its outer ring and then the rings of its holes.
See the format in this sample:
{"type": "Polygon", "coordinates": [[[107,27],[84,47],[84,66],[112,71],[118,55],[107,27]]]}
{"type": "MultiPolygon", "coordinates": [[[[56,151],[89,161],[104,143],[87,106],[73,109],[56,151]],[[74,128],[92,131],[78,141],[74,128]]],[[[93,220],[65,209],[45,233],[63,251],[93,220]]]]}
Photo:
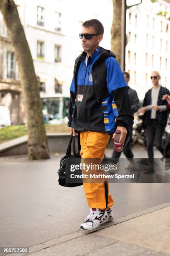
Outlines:
{"type": "Polygon", "coordinates": [[[116,54],[116,59],[120,64],[121,57],[121,18],[122,0],[112,0],[113,20],[111,27],[111,51],[116,54]]]}

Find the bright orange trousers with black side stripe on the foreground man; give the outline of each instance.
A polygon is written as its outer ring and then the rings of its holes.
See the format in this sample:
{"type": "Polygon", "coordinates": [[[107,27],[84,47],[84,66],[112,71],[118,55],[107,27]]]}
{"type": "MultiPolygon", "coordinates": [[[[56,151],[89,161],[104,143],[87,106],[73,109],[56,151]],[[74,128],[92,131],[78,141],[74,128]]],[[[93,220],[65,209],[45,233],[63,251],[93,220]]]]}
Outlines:
{"type": "MultiPolygon", "coordinates": [[[[108,133],[80,132],[80,154],[82,159],[103,159],[109,138],[110,135],[108,133]]],[[[108,182],[83,183],[83,186],[90,208],[105,209],[106,207],[112,207],[113,200],[109,193],[108,182]]]]}

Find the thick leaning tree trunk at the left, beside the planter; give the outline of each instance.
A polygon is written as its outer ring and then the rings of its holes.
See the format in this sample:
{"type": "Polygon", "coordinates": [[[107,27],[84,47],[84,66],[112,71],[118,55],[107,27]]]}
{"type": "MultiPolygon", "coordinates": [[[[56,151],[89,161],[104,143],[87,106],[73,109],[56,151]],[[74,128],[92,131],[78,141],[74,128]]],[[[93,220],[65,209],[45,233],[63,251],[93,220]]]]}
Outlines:
{"type": "Polygon", "coordinates": [[[13,0],[0,0],[0,11],[7,26],[19,67],[28,126],[30,159],[49,159],[42,103],[30,48],[13,0]]]}

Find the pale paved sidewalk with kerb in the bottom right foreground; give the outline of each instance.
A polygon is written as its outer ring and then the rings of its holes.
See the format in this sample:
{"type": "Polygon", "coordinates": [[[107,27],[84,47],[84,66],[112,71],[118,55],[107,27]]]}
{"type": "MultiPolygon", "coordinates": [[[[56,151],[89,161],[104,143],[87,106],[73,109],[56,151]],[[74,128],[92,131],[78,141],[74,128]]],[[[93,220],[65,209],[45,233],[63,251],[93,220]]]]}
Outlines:
{"type": "Polygon", "coordinates": [[[166,205],[168,204],[105,223],[97,231],[80,230],[32,246],[29,248],[29,255],[170,255],[170,206],[166,205]]]}

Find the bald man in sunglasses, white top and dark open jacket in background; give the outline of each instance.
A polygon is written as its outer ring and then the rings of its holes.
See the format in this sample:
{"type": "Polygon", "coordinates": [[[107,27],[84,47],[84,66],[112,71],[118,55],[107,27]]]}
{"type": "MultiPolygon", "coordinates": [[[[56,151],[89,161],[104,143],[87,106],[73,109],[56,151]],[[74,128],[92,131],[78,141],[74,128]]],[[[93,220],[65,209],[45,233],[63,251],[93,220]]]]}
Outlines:
{"type": "Polygon", "coordinates": [[[164,154],[162,138],[167,123],[167,102],[162,98],[165,94],[170,95],[169,90],[160,85],[160,74],[158,71],[151,72],[150,79],[153,87],[146,92],[143,101],[143,108],[139,111],[139,113],[144,113],[143,127],[146,128],[147,136],[149,166],[144,171],[145,174],[154,172],[154,141],[156,148],[158,148],[162,155],[164,154]]]}

